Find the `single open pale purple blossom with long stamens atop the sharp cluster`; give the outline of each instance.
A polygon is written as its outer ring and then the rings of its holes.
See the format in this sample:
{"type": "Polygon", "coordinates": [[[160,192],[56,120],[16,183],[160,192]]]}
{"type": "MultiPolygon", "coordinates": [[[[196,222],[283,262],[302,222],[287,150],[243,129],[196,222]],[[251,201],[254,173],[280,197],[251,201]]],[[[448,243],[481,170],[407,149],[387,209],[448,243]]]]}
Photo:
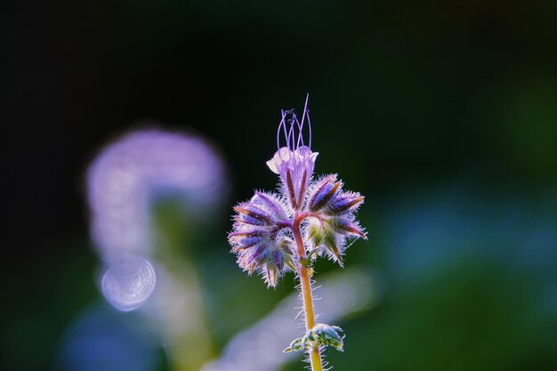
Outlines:
{"type": "Polygon", "coordinates": [[[305,192],[313,175],[318,152],[311,151],[311,121],[306,98],[302,122],[293,109],[282,111],[277,131],[277,152],[267,161],[270,171],[280,176],[282,187],[293,210],[300,210],[305,201],[305,192]],[[306,146],[303,141],[303,124],[308,120],[310,140],[306,146]],[[280,147],[280,135],[284,135],[286,147],[280,147]]]}

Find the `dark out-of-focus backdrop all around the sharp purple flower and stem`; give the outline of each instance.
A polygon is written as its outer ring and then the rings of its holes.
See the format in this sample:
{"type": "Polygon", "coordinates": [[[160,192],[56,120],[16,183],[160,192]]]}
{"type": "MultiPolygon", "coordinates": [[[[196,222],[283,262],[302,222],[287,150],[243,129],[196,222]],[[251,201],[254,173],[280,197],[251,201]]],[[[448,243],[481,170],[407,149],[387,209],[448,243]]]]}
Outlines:
{"type": "Polygon", "coordinates": [[[318,311],[347,334],[335,369],[557,369],[554,1],[1,9],[0,369],[301,369],[290,339],[246,341],[278,336],[293,276],[267,290],[226,233],[231,206],[275,187],[280,109],[307,92],[316,172],[367,197],[369,242],[316,267],[318,311]],[[145,297],[110,305],[125,243],[145,297]]]}

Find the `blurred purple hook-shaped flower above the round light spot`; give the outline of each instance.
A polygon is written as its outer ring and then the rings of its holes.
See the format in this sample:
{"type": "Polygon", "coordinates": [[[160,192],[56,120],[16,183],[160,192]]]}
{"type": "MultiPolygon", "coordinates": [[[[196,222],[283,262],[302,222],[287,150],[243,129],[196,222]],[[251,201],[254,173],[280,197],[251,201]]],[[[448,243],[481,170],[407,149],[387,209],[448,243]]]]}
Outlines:
{"type": "Polygon", "coordinates": [[[202,215],[222,198],[222,159],[197,135],[138,130],[109,144],[87,173],[91,234],[102,258],[148,255],[151,200],[179,192],[202,215]]]}

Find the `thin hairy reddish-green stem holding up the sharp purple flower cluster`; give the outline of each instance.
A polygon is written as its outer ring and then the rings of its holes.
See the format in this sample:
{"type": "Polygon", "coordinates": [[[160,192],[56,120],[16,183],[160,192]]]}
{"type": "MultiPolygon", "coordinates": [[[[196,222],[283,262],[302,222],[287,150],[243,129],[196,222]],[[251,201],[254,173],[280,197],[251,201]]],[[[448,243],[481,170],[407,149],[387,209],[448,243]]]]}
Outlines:
{"type": "MultiPolygon", "coordinates": [[[[294,223],[292,225],[292,231],[294,232],[296,247],[298,249],[298,255],[301,262],[299,274],[300,284],[302,286],[303,314],[305,317],[305,329],[306,331],[309,331],[315,326],[315,314],[313,313],[313,296],[311,295],[310,270],[305,266],[305,262],[307,262],[307,256],[305,254],[305,248],[303,246],[302,231],[300,230],[300,223],[303,221],[303,217],[303,214],[295,215],[294,223]]],[[[310,361],[312,371],[323,370],[323,366],[321,365],[321,354],[319,351],[319,347],[314,346],[311,348],[310,361]]]]}

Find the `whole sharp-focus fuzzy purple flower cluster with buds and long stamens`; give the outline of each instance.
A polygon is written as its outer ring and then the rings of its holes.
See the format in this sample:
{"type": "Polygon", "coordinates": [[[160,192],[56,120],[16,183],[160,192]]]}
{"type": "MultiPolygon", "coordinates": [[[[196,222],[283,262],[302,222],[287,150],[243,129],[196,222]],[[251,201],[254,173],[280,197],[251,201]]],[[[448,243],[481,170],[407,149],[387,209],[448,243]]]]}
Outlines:
{"type": "Polygon", "coordinates": [[[313,180],[318,157],[311,151],[309,110],[302,122],[293,110],[283,111],[277,135],[278,150],[267,162],[280,178],[280,196],[255,192],[249,201],[234,207],[233,231],[229,241],[238,255],[239,266],[249,274],[259,271],[269,286],[287,270],[297,270],[301,262],[296,251],[293,223],[301,226],[304,256],[311,259],[327,255],[343,265],[344,250],[355,238],[366,238],[355,214],[364,198],[357,192],[343,190],[343,182],[331,174],[313,180]],[[310,143],[303,141],[303,124],[307,117],[310,143]],[[286,146],[280,145],[284,134],[286,146]]]}

